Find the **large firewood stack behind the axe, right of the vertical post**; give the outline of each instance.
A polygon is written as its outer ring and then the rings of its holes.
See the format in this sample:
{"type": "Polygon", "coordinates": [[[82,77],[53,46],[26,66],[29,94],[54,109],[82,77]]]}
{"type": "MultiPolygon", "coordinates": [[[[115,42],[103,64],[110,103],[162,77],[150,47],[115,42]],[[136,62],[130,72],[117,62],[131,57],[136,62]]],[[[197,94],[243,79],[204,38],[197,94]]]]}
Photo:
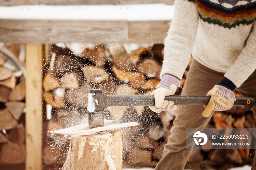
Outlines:
{"type": "MultiPolygon", "coordinates": [[[[53,45],[43,80],[43,98],[46,106],[50,106],[46,107],[47,117],[51,115],[45,121],[48,131],[71,127],[79,124],[82,119],[87,119],[87,99],[91,88],[101,89],[104,94],[151,94],[160,81],[162,50],[163,45],[80,45],[76,48],[68,44],[61,47],[53,45]]],[[[176,94],[180,94],[182,90],[189,65],[176,94]]],[[[116,123],[137,121],[140,124],[138,127],[123,129],[124,162],[155,166],[162,157],[163,146],[175,118],[172,112],[155,113],[147,106],[108,107],[104,112],[105,119],[116,123]]],[[[215,113],[208,126],[251,127],[252,119],[251,111],[245,113],[243,108],[234,107],[229,112],[215,113]]],[[[45,139],[44,163],[64,163],[69,140],[56,140],[47,136],[45,139]]],[[[252,157],[249,154],[251,152],[234,150],[223,155],[223,160],[242,165],[252,157]],[[240,155],[241,159],[234,160],[232,154],[236,157],[240,155]]],[[[217,155],[220,155],[218,150],[202,148],[193,151],[189,163],[195,165],[196,162],[200,167],[206,161],[218,162],[217,155]]]]}

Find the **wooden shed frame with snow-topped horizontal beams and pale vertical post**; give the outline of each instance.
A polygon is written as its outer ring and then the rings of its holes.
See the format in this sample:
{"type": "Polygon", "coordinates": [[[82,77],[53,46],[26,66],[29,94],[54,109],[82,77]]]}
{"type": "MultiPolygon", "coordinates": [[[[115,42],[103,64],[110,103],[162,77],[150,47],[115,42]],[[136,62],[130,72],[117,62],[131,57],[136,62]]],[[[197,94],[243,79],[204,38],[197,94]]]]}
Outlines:
{"type": "MultiPolygon", "coordinates": [[[[166,4],[172,0],[0,0],[0,8],[17,5],[166,4]]],[[[31,6],[32,5],[32,6],[31,6]]],[[[78,6],[79,7],[79,6],[78,6]]],[[[20,6],[25,9],[26,6],[20,6]]],[[[148,11],[154,12],[154,11],[148,11]]],[[[172,12],[172,11],[171,11],[172,12]]],[[[42,15],[44,15],[42,13],[42,15]]],[[[0,42],[26,44],[26,170],[42,169],[42,70],[47,44],[163,43],[171,19],[83,20],[24,19],[0,15],[0,42]],[[90,31],[90,30],[93,30],[90,31]]]]}

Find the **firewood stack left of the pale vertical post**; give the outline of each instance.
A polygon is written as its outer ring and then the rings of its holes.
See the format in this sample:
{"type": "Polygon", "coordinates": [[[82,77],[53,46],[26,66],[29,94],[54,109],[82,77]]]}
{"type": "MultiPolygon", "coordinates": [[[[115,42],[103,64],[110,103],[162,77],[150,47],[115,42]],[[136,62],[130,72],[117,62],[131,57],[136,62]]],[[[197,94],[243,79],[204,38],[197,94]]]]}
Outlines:
{"type": "Polygon", "coordinates": [[[25,167],[25,80],[0,51],[0,169],[25,167]]]}

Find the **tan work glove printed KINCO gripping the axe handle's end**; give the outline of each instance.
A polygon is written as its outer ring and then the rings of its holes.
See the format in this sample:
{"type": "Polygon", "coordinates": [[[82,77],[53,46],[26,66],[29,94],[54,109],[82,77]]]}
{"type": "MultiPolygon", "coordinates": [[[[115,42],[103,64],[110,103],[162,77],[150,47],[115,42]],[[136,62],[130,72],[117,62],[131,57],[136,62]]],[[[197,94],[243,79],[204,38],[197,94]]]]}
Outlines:
{"type": "Polygon", "coordinates": [[[204,117],[211,116],[212,111],[226,111],[233,107],[234,101],[236,101],[234,94],[236,86],[226,77],[223,80],[206,94],[211,98],[202,113],[204,117]],[[224,82],[229,82],[229,85],[227,83],[223,84],[223,80],[224,82]]]}

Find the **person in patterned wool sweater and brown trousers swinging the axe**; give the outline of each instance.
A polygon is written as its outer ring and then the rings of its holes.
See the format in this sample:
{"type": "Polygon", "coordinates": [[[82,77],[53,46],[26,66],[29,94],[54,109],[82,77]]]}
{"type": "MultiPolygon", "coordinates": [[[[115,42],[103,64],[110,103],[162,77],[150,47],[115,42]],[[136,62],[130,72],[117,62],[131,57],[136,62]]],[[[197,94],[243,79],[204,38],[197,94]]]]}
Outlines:
{"type": "MultiPolygon", "coordinates": [[[[152,93],[155,106],[150,108],[155,112],[175,110],[176,118],[156,170],[184,169],[192,152],[185,148],[186,128],[204,128],[214,111],[231,108],[234,90],[256,98],[255,18],[255,0],[175,0],[164,42],[161,81],[152,93]],[[164,101],[165,96],[176,92],[191,55],[193,61],[181,95],[211,96],[206,108],[177,108],[173,101],[164,101]]],[[[252,111],[256,116],[256,105],[252,111]]],[[[252,169],[256,168],[255,159],[252,169]]]]}

